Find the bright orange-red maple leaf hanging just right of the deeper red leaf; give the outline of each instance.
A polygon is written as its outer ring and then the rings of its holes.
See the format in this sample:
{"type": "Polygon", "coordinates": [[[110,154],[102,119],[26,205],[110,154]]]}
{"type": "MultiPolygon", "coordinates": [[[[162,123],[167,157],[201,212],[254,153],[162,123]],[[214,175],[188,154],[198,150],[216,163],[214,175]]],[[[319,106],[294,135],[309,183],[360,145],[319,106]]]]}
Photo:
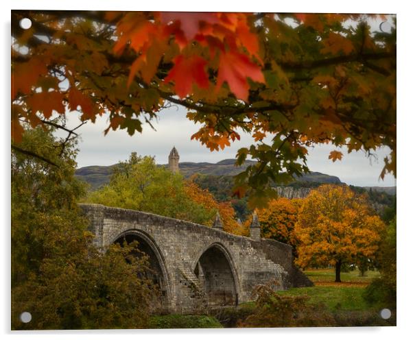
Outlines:
{"type": "Polygon", "coordinates": [[[250,86],[246,80],[250,77],[255,82],[265,82],[263,73],[257,64],[251,62],[245,54],[237,51],[222,51],[218,70],[217,89],[224,82],[239,99],[248,99],[250,86]]]}

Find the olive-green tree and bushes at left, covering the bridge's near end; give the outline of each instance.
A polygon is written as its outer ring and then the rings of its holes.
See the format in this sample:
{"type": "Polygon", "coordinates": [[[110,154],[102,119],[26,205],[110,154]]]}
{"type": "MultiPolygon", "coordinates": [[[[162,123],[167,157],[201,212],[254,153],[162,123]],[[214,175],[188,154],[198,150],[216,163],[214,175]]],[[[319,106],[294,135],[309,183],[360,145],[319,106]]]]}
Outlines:
{"type": "Polygon", "coordinates": [[[136,245],[97,250],[73,177],[75,140],[36,128],[12,154],[12,328],[144,328],[156,289],[136,245]],[[36,154],[36,157],[29,154],[36,154]],[[56,165],[40,160],[47,158],[56,165]],[[19,316],[32,314],[23,324],[19,316]]]}

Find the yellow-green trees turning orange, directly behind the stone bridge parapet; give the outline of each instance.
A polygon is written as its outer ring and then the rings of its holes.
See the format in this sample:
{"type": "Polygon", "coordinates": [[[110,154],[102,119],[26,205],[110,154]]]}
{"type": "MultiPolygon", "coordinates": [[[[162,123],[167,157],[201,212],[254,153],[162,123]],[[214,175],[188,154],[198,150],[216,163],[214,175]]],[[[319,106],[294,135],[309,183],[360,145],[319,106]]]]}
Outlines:
{"type": "Polygon", "coordinates": [[[152,157],[132,153],[121,162],[110,183],[88,195],[86,202],[116,206],[184,219],[211,226],[217,211],[224,228],[233,230],[235,212],[225,202],[218,203],[207,190],[202,190],[180,173],[156,165],[152,157]]]}

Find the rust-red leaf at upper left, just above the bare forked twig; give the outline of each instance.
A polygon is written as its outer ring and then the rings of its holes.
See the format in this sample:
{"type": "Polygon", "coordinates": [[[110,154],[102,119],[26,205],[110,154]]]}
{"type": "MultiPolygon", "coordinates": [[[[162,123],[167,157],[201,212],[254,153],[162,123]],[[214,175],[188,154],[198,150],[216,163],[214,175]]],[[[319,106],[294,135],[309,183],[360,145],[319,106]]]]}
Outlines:
{"type": "Polygon", "coordinates": [[[33,93],[26,99],[32,113],[43,112],[46,119],[50,118],[53,110],[64,113],[63,95],[57,91],[33,93]]]}

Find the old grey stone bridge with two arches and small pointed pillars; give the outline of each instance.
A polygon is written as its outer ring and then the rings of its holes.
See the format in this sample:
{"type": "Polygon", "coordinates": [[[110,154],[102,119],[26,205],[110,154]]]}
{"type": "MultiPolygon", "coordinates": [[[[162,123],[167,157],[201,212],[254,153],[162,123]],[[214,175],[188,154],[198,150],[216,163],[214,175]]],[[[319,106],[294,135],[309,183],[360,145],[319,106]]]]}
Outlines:
{"type": "Polygon", "coordinates": [[[98,247],[139,241],[168,311],[185,313],[202,304],[214,307],[247,302],[257,284],[275,282],[280,290],[312,284],[292,264],[290,245],[261,239],[256,217],[251,237],[244,237],[224,232],[218,216],[211,228],[100,204],[80,206],[98,247]]]}

